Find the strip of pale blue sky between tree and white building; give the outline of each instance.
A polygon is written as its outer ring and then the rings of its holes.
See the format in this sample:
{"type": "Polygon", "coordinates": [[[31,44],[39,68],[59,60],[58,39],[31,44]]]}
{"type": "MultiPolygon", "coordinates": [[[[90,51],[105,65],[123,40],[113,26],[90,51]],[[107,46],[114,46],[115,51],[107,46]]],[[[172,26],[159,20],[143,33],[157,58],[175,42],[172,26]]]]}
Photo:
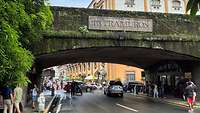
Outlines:
{"type": "Polygon", "coordinates": [[[92,0],[49,0],[49,1],[51,6],[87,8],[92,0]]]}

